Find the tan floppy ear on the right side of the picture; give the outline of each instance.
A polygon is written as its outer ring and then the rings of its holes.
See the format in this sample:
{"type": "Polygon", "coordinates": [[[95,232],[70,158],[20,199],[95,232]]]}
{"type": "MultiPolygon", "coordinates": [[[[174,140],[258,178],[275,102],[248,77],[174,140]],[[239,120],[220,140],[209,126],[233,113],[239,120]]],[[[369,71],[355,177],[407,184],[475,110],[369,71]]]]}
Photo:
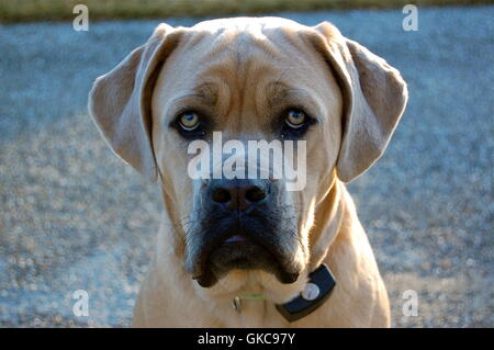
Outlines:
{"type": "Polygon", "coordinates": [[[349,182],[378,160],[408,98],[400,72],[332,24],[315,26],[316,48],[336,74],[344,94],[343,138],[336,170],[349,182]],[[322,38],[322,39],[321,39],[322,38]]]}

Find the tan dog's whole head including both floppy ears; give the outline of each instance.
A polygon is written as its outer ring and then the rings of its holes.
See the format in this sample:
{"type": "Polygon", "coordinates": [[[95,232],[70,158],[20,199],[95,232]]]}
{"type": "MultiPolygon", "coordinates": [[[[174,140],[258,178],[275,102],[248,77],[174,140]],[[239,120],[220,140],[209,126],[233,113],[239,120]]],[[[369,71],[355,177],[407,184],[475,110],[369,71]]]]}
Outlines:
{"type": "Polygon", "coordinates": [[[306,276],[319,204],[382,155],[406,99],[397,70],[329,23],[240,18],[159,25],[96,81],[89,109],[114,153],[162,183],[199,284],[261,271],[282,290],[306,276]]]}

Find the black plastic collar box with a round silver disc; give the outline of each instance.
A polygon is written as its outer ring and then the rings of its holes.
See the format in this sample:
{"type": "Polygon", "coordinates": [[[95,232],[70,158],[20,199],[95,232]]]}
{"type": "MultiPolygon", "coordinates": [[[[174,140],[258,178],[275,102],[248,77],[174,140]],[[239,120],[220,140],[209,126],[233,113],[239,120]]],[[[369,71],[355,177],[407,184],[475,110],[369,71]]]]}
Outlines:
{"type": "Polygon", "coordinates": [[[327,301],[336,285],[335,278],[326,264],[321,264],[308,274],[308,283],[299,296],[284,304],[278,304],[277,309],[288,321],[295,321],[312,314],[327,301]]]}

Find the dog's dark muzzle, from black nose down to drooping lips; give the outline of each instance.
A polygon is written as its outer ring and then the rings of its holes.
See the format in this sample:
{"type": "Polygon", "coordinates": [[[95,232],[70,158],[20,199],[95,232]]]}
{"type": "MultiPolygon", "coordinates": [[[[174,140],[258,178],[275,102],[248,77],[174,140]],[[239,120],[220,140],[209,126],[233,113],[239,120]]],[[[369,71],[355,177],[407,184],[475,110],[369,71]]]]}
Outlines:
{"type": "Polygon", "coordinates": [[[297,225],[268,180],[211,180],[203,210],[188,235],[186,268],[203,287],[234,269],[263,270],[282,283],[296,281],[297,225]]]}

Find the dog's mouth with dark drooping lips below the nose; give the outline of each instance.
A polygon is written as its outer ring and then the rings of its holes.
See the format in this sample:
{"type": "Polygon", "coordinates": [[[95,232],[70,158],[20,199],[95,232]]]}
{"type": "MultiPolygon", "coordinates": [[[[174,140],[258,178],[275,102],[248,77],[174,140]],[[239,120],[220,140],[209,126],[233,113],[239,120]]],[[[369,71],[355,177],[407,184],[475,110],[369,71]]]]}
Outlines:
{"type": "MultiPolygon", "coordinates": [[[[272,237],[272,236],[271,236],[272,237]]],[[[263,270],[281,283],[293,283],[300,271],[290,266],[279,244],[252,233],[224,234],[205,245],[197,259],[193,279],[203,287],[214,285],[231,270],[263,270]]]]}

